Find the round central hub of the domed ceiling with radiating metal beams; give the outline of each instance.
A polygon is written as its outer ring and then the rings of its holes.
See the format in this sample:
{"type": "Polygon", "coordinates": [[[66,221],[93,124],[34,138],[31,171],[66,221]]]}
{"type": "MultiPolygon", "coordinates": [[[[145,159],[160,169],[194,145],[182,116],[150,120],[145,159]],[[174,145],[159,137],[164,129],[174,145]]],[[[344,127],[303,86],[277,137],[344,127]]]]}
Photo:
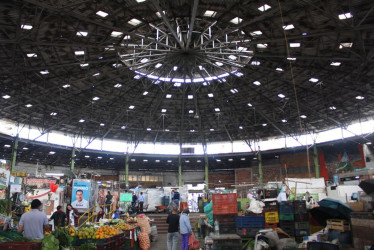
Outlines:
{"type": "Polygon", "coordinates": [[[229,75],[252,58],[251,40],[240,29],[223,30],[217,21],[165,19],[139,25],[123,40],[122,61],[136,78],[165,82],[206,82],[229,75]]]}

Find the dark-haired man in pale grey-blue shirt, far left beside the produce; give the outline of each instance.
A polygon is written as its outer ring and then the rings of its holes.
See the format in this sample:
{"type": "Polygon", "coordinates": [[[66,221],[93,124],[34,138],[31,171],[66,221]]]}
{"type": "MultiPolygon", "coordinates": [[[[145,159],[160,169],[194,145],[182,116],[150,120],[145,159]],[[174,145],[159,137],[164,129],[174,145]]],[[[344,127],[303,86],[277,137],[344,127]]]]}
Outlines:
{"type": "Polygon", "coordinates": [[[48,225],[47,215],[40,211],[42,203],[35,199],[31,202],[31,211],[21,216],[18,233],[23,232],[23,237],[31,240],[44,238],[43,227],[48,225]]]}

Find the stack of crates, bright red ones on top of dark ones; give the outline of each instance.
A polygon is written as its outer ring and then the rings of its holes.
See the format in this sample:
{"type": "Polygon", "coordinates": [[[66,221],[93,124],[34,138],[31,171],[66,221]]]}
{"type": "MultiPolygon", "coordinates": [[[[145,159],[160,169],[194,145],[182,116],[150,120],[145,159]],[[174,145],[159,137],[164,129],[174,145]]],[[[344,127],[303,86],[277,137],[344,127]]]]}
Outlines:
{"type": "Polygon", "coordinates": [[[235,193],[213,194],[213,220],[219,223],[220,234],[235,234],[235,216],[238,203],[235,193]]]}

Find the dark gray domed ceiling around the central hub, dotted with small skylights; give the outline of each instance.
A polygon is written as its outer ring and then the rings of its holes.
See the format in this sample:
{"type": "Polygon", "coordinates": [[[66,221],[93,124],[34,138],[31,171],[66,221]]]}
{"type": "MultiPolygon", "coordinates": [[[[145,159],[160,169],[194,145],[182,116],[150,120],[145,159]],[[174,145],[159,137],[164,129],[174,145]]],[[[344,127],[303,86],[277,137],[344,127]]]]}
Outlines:
{"type": "MultiPolygon", "coordinates": [[[[281,9],[274,0],[1,1],[0,92],[2,97],[10,98],[0,98],[0,116],[38,126],[44,132],[59,130],[98,138],[183,143],[294,135],[300,129],[320,131],[372,116],[374,1],[298,0],[280,4],[281,9]],[[264,4],[271,9],[259,11],[264,4]],[[99,10],[108,16],[98,16],[99,10]],[[165,11],[165,19],[156,15],[158,10],[165,11]],[[205,17],[206,10],[215,11],[215,16],[205,17]],[[353,18],[338,18],[348,12],[353,18]],[[231,23],[235,17],[242,22],[231,23]],[[130,25],[128,21],[133,18],[142,23],[130,25]],[[152,25],[166,32],[171,50],[186,54],[181,48],[183,41],[181,45],[173,38],[171,30],[176,31],[175,24],[195,23],[194,31],[201,31],[204,23],[215,21],[213,40],[229,34],[230,41],[237,39],[239,45],[253,51],[251,62],[239,69],[241,77],[232,74],[225,81],[206,85],[155,84],[155,80],[146,77],[134,79],[134,69],[123,64],[119,56],[128,53],[133,44],[139,45],[141,36],[145,44],[154,45],[152,25]],[[283,23],[293,24],[294,29],[284,31],[283,23]],[[32,29],[22,29],[23,24],[32,25],[32,29]],[[251,34],[258,30],[262,35],[251,34]],[[88,35],[77,36],[79,31],[88,35]],[[123,34],[112,37],[113,31],[123,34]],[[131,39],[125,39],[128,35],[131,39]],[[300,43],[301,47],[287,49],[289,43],[300,43]],[[339,48],[341,43],[353,45],[339,48]],[[258,44],[267,44],[267,48],[259,48],[258,44]],[[77,56],[75,51],[85,54],[77,56]],[[37,57],[28,57],[30,53],[37,57]],[[296,61],[287,60],[289,56],[296,61]],[[253,65],[254,61],[260,65],[253,65]],[[341,64],[332,66],[332,62],[341,64]],[[81,67],[86,63],[89,65],[81,67]],[[44,70],[49,74],[40,73],[44,70]],[[96,73],[100,75],[93,76],[96,73]],[[318,80],[311,82],[311,78],[318,80]],[[261,85],[254,85],[254,81],[261,85]],[[121,87],[115,88],[118,83],[121,87]],[[66,84],[70,87],[64,88],[66,84]],[[232,93],[232,89],[238,92],[232,93]],[[209,93],[214,97],[209,98],[209,93]],[[285,98],[279,98],[280,93],[285,98]],[[166,98],[167,94],[171,98],[166,98]],[[193,95],[193,99],[188,99],[188,95],[193,95]],[[358,100],[357,96],[364,99],[358,100]],[[93,101],[94,97],[100,99],[93,101]],[[135,108],[129,109],[131,105],[135,108]],[[167,112],[162,113],[161,109],[167,112]],[[57,115],[52,116],[52,112],[57,115]],[[300,115],[306,118],[299,118],[300,115]],[[85,122],[80,123],[80,119],[85,122]],[[105,125],[100,126],[101,123],[105,125]]],[[[188,35],[184,34],[183,39],[188,40],[188,35]]],[[[224,45],[225,49],[232,49],[233,44],[224,45]]],[[[196,51],[198,45],[199,36],[192,35],[187,47],[196,51]]],[[[165,44],[160,46],[166,48],[165,44]]],[[[165,70],[173,66],[171,63],[178,64],[180,74],[186,78],[189,71],[197,72],[201,61],[183,65],[177,56],[179,61],[173,61],[170,53],[165,52],[168,57],[163,59],[155,52],[154,58],[161,58],[157,62],[164,64],[155,69],[156,73],[173,78],[174,73],[165,70]]],[[[199,60],[209,65],[207,60],[213,59],[204,53],[199,54],[199,60]]],[[[224,52],[220,54],[216,49],[214,53],[222,59],[224,70],[232,66],[224,52]]],[[[210,73],[217,71],[217,66],[210,66],[210,73]]]]}

